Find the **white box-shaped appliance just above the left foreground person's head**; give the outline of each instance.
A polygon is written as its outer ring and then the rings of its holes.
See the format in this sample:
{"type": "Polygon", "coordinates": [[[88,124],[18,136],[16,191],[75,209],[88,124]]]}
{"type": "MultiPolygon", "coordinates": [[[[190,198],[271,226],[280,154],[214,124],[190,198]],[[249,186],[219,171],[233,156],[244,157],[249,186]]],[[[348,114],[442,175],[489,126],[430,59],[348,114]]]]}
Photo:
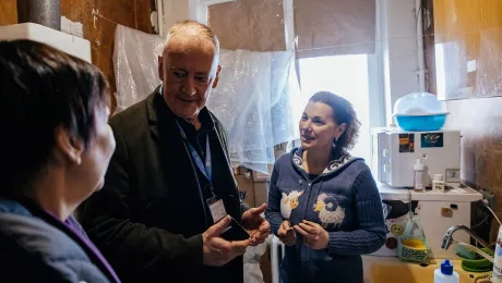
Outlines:
{"type": "Polygon", "coordinates": [[[91,63],[88,40],[39,24],[0,26],[0,40],[31,39],[57,48],[91,63]]]}

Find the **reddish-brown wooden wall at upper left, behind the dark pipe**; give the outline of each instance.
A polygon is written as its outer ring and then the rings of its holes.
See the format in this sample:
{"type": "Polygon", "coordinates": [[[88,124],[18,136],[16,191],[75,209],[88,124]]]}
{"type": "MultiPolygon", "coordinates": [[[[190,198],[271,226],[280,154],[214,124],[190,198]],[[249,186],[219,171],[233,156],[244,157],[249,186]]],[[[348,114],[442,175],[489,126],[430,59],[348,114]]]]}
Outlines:
{"type": "MultiPolygon", "coordinates": [[[[15,0],[0,1],[0,25],[17,23],[15,0]]],[[[110,82],[115,91],[113,38],[117,24],[154,33],[150,14],[155,10],[154,0],[61,0],[61,15],[83,24],[84,38],[91,41],[93,63],[97,65],[110,82]],[[96,27],[92,16],[93,8],[107,17],[98,17],[96,27]]],[[[112,108],[116,101],[113,99],[112,108]]]]}

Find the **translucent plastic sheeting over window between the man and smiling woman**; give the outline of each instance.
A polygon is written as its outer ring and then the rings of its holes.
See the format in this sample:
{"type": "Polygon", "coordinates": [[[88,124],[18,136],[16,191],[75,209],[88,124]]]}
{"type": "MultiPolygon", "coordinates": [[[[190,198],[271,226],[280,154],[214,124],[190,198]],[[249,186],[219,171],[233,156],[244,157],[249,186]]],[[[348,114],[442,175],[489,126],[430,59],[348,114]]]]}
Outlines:
{"type": "Polygon", "coordinates": [[[207,107],[228,131],[232,163],[266,173],[274,145],[294,139],[297,128],[294,53],[222,50],[220,64],[207,107]]]}

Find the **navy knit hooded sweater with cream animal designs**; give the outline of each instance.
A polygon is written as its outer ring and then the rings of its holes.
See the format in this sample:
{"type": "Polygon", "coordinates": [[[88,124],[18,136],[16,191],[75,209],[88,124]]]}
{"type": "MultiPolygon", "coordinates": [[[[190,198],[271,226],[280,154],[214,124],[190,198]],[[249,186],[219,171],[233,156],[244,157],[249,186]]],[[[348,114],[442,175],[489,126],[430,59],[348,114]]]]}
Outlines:
{"type": "Polygon", "coordinates": [[[330,234],[328,248],[312,250],[297,233],[286,247],[282,282],[362,283],[361,255],[378,250],[385,241],[382,202],[370,169],[362,159],[345,155],[324,172],[302,169],[302,149],[277,159],[272,173],[266,218],[272,231],[285,219],[321,224],[330,234]]]}

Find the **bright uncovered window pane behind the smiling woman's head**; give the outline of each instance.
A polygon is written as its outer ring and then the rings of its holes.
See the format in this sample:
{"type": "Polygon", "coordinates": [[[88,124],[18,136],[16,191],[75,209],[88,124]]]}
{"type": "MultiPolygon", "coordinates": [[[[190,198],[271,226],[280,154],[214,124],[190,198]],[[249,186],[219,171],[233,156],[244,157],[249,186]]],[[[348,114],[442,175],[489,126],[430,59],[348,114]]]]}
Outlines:
{"type": "MultiPolygon", "coordinates": [[[[361,122],[359,139],[351,150],[355,157],[370,161],[370,72],[366,54],[330,56],[300,59],[301,94],[308,99],[327,90],[350,101],[361,122]]],[[[303,111],[304,106],[295,106],[303,111]]]]}

